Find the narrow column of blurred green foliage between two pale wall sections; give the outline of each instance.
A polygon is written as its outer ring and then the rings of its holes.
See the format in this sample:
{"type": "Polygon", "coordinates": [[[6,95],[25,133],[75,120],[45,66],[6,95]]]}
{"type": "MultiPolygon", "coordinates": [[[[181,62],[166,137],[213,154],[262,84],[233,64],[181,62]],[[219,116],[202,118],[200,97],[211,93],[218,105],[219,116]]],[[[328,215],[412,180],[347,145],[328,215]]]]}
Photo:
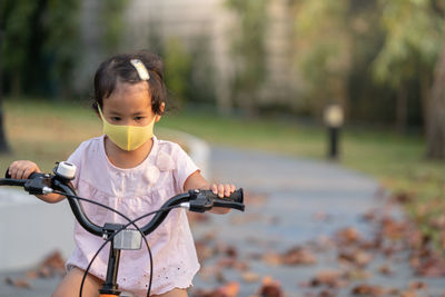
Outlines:
{"type": "Polygon", "coordinates": [[[265,37],[268,24],[267,0],[226,0],[239,26],[231,34],[233,98],[248,115],[258,112],[257,99],[266,78],[265,37]]]}

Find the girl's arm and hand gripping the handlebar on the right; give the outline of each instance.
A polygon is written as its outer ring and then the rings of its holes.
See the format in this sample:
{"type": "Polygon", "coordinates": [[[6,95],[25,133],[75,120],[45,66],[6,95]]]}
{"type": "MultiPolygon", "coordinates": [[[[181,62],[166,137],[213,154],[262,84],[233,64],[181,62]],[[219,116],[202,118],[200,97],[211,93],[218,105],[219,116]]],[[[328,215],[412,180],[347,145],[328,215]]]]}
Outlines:
{"type": "MultiPolygon", "coordinates": [[[[195,171],[191,174],[184,182],[184,190],[188,191],[191,189],[210,189],[215,195],[218,195],[220,198],[229,197],[236,190],[234,185],[222,185],[222,184],[210,184],[201,176],[199,171],[195,171]]],[[[210,210],[214,214],[227,214],[230,211],[228,208],[214,208],[210,210]]]]}

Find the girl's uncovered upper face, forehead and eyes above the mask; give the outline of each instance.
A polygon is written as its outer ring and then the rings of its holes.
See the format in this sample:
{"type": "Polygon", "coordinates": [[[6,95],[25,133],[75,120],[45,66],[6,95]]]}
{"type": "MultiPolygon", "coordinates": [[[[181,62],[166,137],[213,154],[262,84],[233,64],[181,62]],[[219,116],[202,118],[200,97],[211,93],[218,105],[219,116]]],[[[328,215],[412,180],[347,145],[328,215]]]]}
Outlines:
{"type": "MultiPolygon", "coordinates": [[[[162,102],[161,110],[164,107],[162,102]]],[[[102,100],[102,113],[112,125],[147,126],[155,117],[156,122],[160,119],[151,109],[151,97],[146,81],[118,81],[113,92],[102,100]]]]}

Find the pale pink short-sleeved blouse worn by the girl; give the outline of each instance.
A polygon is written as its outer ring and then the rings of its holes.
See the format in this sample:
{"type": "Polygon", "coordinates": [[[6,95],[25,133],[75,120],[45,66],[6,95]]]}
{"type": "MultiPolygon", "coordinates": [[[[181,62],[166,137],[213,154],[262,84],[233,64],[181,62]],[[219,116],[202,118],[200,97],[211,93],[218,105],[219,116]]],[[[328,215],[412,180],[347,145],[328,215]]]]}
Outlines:
{"type": "MultiPolygon", "coordinates": [[[[199,170],[177,143],[158,140],[156,137],[148,157],[130,169],[113,166],[106,155],[103,143],[105,136],[89,139],[70,156],[68,161],[77,166],[73,186],[80,197],[107,205],[130,219],[157,210],[170,197],[184,192],[186,179],[199,170]]],[[[105,222],[128,222],[102,207],[85,201],[81,204],[86,215],[98,226],[105,222]]],[[[138,227],[151,218],[140,220],[138,227]]],[[[154,257],[151,294],[190,287],[199,270],[199,263],[185,210],[171,210],[164,222],[146,238],[154,257]]],[[[76,221],[75,242],[76,249],[67,267],[86,269],[103,239],[89,234],[76,221]]],[[[108,254],[109,246],[96,258],[90,274],[106,278],[108,254]]],[[[144,241],[140,250],[121,251],[119,289],[146,296],[149,273],[149,254],[144,241]]]]}

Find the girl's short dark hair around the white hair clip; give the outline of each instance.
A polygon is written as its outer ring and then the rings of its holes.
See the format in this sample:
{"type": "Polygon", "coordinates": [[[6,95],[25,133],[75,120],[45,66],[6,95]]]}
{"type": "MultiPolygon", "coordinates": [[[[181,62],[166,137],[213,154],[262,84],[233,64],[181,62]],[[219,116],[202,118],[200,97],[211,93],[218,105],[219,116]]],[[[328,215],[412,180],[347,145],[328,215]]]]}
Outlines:
{"type": "Polygon", "coordinates": [[[116,89],[117,83],[137,83],[141,81],[138,71],[131,65],[131,59],[139,59],[150,76],[148,90],[151,96],[151,109],[161,115],[160,106],[167,100],[167,88],[164,82],[164,63],[155,53],[140,50],[134,53],[117,55],[103,61],[95,75],[95,102],[92,107],[98,111],[98,106],[103,107],[103,99],[107,99],[116,89]]]}

